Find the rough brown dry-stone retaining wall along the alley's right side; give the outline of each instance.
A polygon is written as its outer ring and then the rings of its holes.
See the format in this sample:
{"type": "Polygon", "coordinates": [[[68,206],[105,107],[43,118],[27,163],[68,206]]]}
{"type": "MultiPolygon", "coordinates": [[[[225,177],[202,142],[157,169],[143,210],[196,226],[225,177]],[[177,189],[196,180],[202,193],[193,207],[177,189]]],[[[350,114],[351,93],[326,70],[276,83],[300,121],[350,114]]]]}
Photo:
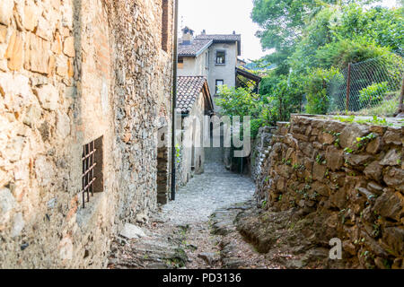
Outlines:
{"type": "Polygon", "coordinates": [[[298,115],[277,126],[259,205],[293,208],[317,246],[341,239],[347,266],[404,268],[404,127],[298,115]]]}

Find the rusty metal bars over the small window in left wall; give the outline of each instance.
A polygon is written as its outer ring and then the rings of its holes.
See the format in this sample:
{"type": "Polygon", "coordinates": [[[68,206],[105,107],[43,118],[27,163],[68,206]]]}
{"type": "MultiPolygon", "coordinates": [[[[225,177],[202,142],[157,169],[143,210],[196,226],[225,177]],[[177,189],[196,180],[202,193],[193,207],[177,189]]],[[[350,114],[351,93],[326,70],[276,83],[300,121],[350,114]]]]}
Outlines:
{"type": "Polygon", "coordinates": [[[94,195],[94,183],[97,179],[94,176],[94,168],[97,165],[97,161],[95,161],[96,151],[97,149],[95,148],[95,141],[83,145],[83,208],[85,206],[85,202],[90,201],[90,194],[92,196],[94,195]]]}

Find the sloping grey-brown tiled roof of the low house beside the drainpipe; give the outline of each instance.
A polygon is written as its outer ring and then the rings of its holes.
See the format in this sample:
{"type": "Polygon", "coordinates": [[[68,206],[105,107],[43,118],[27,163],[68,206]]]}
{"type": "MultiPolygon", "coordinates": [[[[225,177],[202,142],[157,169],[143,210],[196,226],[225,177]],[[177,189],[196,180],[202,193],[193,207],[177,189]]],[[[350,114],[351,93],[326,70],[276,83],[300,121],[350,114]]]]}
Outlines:
{"type": "Polygon", "coordinates": [[[189,113],[204,87],[204,76],[179,76],[177,78],[177,110],[189,113]]]}

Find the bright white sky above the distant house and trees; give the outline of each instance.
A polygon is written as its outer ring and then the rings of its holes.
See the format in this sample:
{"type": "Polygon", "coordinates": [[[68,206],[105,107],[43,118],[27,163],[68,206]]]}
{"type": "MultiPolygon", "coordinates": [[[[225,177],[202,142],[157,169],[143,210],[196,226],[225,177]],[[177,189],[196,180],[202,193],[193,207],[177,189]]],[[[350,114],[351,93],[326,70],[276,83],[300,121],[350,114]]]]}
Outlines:
{"type": "MultiPolygon", "coordinates": [[[[381,1],[385,6],[394,6],[396,0],[381,1]]],[[[179,30],[189,26],[200,34],[242,34],[243,59],[255,60],[269,54],[262,51],[255,32],[259,26],[252,22],[252,0],[179,0],[179,30]]]]}

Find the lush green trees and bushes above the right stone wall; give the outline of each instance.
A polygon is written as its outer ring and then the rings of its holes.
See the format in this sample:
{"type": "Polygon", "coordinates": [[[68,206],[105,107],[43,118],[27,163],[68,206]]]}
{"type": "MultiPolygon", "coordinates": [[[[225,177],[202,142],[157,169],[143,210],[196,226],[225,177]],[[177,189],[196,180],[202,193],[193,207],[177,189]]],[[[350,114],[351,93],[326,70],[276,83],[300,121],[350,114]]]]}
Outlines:
{"type": "MultiPolygon", "coordinates": [[[[345,83],[339,71],[349,63],[377,59],[366,73],[377,79],[387,76],[386,91],[395,91],[391,83],[400,82],[398,67],[404,65],[399,56],[404,48],[404,9],[364,6],[373,2],[254,0],[251,18],[261,28],[257,36],[263,48],[276,49],[261,59],[277,64],[260,83],[262,100],[268,104],[267,122],[288,120],[291,112],[301,110],[304,96],[309,113],[325,114],[340,105],[329,99],[327,85],[345,83]]],[[[382,96],[376,96],[382,88],[384,83],[364,90],[363,102],[382,104],[382,96]]]]}

